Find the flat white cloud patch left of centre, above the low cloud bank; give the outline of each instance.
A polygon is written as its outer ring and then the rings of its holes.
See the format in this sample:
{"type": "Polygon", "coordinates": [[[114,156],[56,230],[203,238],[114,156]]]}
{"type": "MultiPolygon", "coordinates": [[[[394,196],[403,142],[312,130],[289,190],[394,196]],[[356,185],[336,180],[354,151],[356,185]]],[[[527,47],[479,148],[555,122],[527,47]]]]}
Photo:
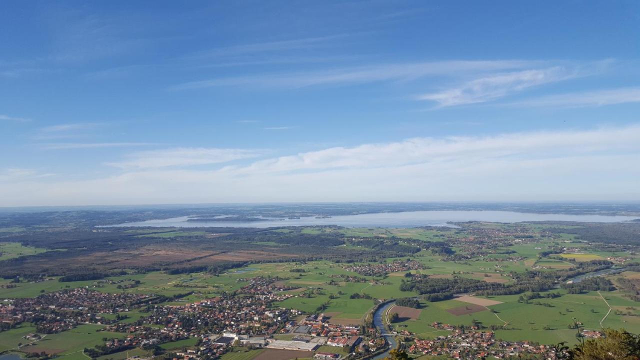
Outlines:
{"type": "Polygon", "coordinates": [[[129,155],[129,160],[108,163],[108,165],[129,169],[186,167],[227,163],[233,160],[255,158],[261,154],[261,151],[253,149],[177,147],[173,149],[135,152],[129,155]]]}

